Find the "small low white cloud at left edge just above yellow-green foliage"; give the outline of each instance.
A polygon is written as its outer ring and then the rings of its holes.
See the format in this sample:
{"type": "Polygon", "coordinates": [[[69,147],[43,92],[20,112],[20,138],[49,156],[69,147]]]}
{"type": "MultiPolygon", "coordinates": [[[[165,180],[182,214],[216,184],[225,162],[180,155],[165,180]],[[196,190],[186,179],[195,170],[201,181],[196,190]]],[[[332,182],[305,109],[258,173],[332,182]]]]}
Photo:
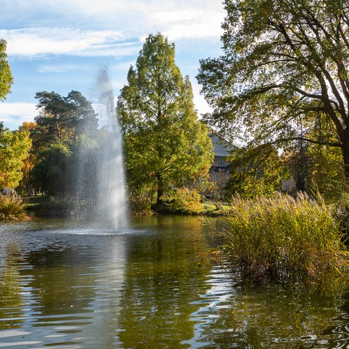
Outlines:
{"type": "Polygon", "coordinates": [[[18,128],[23,121],[34,121],[37,114],[38,110],[34,103],[6,101],[0,103],[0,121],[11,130],[18,128]]]}

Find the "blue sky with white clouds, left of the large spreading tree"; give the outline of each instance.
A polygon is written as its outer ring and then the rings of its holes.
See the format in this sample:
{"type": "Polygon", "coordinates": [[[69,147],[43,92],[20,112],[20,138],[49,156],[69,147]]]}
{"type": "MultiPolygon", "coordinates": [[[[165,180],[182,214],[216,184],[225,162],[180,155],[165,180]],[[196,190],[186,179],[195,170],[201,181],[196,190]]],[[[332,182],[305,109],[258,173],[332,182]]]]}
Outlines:
{"type": "Polygon", "coordinates": [[[38,91],[75,90],[93,102],[101,66],[117,98],[145,38],[157,32],[175,44],[198,114],[209,112],[195,75],[200,59],[222,54],[221,0],[0,0],[0,8],[0,38],[14,78],[0,101],[0,121],[11,130],[34,121],[38,91]]]}

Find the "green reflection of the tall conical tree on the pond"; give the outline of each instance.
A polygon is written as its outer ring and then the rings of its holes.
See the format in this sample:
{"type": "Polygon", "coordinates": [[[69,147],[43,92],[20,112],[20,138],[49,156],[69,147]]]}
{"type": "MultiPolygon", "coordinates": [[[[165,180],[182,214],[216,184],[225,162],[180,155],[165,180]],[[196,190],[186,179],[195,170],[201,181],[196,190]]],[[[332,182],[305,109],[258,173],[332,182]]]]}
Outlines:
{"type": "Polygon", "coordinates": [[[194,262],[209,248],[198,218],[157,218],[156,233],[130,239],[119,338],[125,348],[179,348],[191,338],[193,303],[209,285],[209,266],[194,262]]]}

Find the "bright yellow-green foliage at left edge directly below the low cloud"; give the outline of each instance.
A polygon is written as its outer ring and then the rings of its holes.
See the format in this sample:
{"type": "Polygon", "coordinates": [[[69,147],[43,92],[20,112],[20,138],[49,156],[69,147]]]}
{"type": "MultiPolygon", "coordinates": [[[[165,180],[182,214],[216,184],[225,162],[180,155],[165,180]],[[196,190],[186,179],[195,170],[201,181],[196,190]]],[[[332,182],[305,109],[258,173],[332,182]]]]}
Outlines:
{"type": "Polygon", "coordinates": [[[15,188],[19,184],[30,147],[28,132],[13,132],[0,124],[0,188],[15,188]]]}

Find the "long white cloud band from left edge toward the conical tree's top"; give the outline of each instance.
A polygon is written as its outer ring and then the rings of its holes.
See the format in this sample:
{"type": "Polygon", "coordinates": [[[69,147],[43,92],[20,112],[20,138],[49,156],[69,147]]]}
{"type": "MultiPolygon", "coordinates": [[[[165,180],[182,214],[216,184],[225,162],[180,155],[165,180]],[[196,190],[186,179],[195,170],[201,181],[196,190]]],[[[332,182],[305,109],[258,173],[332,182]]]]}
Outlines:
{"type": "Polygon", "coordinates": [[[0,30],[13,56],[71,54],[80,56],[125,56],[140,50],[140,43],[124,42],[120,31],[93,31],[71,28],[26,28],[0,30]]]}

